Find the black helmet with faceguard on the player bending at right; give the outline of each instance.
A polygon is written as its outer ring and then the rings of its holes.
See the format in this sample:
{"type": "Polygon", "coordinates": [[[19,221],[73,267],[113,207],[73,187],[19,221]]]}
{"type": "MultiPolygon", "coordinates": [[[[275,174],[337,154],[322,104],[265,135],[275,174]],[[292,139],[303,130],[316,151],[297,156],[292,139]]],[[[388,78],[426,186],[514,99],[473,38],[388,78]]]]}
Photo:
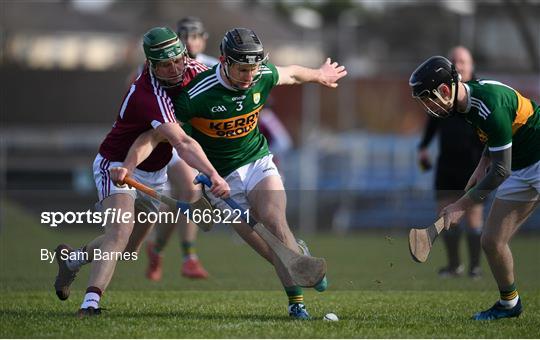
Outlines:
{"type": "Polygon", "coordinates": [[[409,79],[409,86],[412,88],[413,98],[422,103],[430,115],[446,118],[451,114],[451,108],[441,106],[436,100],[445,106],[455,106],[459,81],[460,77],[454,65],[445,57],[434,56],[414,70],[409,79]],[[439,93],[441,84],[450,87],[452,91],[450,99],[444,99],[439,93]]]}

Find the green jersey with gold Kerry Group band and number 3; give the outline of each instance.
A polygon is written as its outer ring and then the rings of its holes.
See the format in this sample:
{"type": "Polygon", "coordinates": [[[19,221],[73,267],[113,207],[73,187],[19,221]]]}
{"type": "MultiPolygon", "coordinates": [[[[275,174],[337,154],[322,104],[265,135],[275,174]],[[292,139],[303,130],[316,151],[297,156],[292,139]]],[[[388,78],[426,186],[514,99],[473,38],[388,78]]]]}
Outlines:
{"type": "Polygon", "coordinates": [[[177,118],[189,124],[221,176],[270,153],[257,126],[259,112],[278,82],[274,65],[261,66],[261,78],[247,90],[230,87],[218,64],[199,73],[174,100],[177,118]]]}

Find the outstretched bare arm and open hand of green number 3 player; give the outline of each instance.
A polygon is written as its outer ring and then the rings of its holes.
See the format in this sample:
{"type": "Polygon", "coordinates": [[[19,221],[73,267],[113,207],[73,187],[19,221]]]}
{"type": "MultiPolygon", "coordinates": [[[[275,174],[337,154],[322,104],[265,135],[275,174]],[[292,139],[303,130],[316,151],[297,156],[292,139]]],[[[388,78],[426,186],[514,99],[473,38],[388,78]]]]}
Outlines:
{"type": "Polygon", "coordinates": [[[345,66],[332,62],[330,58],[318,69],[298,65],[276,66],[279,73],[278,85],[293,85],[302,83],[319,83],[324,86],[336,88],[337,81],[347,75],[345,66]]]}

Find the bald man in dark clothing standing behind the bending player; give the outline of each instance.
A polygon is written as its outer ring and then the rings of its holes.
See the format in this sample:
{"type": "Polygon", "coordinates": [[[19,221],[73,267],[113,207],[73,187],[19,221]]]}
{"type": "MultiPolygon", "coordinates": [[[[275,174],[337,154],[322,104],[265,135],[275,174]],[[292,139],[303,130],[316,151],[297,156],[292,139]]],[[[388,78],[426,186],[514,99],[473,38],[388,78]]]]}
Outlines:
{"type": "MultiPolygon", "coordinates": [[[[474,78],[472,56],[465,47],[457,46],[450,51],[450,61],[456,66],[462,81],[474,78]]],[[[463,190],[482,156],[484,145],[476,131],[465,120],[455,115],[446,119],[430,117],[422,141],[418,146],[418,159],[424,170],[431,168],[427,147],[436,133],[439,133],[439,156],[435,175],[435,190],[438,210],[455,202],[463,195],[463,190]]],[[[480,235],[483,225],[483,206],[471,208],[466,214],[466,233],[469,248],[469,276],[479,278],[480,235]]],[[[462,229],[451,227],[443,233],[448,255],[448,264],[439,270],[442,277],[459,276],[464,266],[459,257],[459,240],[462,229]]]]}

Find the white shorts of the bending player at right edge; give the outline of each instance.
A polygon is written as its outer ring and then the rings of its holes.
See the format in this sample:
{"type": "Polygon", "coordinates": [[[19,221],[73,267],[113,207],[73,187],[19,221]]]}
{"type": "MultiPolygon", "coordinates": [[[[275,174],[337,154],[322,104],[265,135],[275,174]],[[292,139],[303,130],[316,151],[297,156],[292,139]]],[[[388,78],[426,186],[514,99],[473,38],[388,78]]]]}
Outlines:
{"type": "Polygon", "coordinates": [[[512,175],[497,189],[495,197],[520,202],[540,200],[540,161],[513,171],[512,175]]]}

